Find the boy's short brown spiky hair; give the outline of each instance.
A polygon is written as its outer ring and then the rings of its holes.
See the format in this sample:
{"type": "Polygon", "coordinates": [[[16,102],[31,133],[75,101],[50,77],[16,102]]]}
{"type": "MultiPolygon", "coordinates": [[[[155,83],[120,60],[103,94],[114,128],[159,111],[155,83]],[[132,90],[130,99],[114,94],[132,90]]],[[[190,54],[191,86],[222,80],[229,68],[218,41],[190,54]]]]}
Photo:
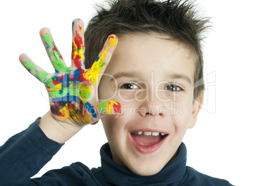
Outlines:
{"type": "Polygon", "coordinates": [[[85,30],[85,62],[87,69],[96,60],[111,34],[158,34],[185,44],[195,55],[194,99],[204,90],[201,41],[209,18],[197,15],[193,1],[109,0],[109,6],[97,6],[85,30]]]}

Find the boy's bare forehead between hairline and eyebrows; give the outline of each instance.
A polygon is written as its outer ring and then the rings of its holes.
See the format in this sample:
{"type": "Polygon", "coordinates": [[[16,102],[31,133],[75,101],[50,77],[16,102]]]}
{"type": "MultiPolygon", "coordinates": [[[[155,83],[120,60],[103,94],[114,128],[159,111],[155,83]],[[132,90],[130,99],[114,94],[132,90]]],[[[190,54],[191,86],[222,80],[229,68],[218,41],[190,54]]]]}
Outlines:
{"type": "Polygon", "coordinates": [[[165,79],[170,74],[194,77],[194,55],[185,44],[159,34],[125,34],[118,37],[106,73],[131,73],[148,77],[154,72],[165,79]]]}

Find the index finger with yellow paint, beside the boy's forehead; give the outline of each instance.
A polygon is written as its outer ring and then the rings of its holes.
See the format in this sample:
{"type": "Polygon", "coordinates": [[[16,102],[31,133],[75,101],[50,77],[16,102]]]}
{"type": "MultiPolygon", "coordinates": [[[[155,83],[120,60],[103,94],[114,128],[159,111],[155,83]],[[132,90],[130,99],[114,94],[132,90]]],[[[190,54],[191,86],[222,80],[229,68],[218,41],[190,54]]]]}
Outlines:
{"type": "Polygon", "coordinates": [[[99,53],[99,56],[90,67],[90,70],[83,74],[83,77],[90,81],[90,83],[96,85],[97,81],[101,80],[103,73],[110,62],[111,56],[117,46],[118,38],[115,35],[111,35],[106,40],[103,49],[99,53]]]}

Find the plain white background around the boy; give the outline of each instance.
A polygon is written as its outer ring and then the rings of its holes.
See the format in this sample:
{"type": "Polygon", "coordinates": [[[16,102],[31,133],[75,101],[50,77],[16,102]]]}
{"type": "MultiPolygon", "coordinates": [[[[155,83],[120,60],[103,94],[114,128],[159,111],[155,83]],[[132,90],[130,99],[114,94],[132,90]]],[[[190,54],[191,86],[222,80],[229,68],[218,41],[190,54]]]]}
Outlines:
{"type": "MultiPolygon", "coordinates": [[[[1,1],[0,145],[25,130],[48,109],[43,85],[18,61],[20,53],[53,72],[39,30],[48,27],[66,63],[71,58],[71,23],[85,25],[96,13],[92,0],[1,1]],[[4,3],[3,3],[4,2],[4,3]],[[73,3],[72,3],[73,2],[73,3]]],[[[234,185],[256,185],[255,1],[197,1],[214,27],[204,43],[208,91],[197,125],[188,130],[187,165],[234,185]]],[[[86,126],[39,171],[62,168],[76,161],[100,166],[99,149],[106,142],[101,123],[86,126]]]]}

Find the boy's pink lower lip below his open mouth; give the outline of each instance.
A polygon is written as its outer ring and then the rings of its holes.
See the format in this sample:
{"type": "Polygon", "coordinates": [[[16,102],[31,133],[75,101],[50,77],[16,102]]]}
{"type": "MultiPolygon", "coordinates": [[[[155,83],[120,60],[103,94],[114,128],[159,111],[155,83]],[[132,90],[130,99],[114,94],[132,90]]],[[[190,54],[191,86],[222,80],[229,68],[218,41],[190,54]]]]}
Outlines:
{"type": "Polygon", "coordinates": [[[131,136],[131,132],[129,132],[129,138],[132,142],[132,145],[139,151],[139,152],[142,152],[143,154],[150,154],[152,152],[155,152],[157,151],[161,146],[162,144],[164,143],[164,141],[166,140],[166,137],[165,136],[160,142],[158,143],[155,143],[153,145],[149,145],[149,146],[143,146],[139,143],[137,143],[131,136]]]}

